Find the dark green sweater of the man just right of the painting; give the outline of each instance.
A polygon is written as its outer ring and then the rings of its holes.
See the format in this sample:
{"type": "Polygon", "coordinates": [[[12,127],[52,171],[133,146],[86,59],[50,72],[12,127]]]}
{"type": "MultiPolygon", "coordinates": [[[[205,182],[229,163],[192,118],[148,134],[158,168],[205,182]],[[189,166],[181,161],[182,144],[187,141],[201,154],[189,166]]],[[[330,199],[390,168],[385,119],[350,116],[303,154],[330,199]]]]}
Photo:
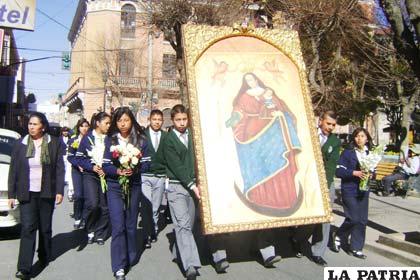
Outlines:
{"type": "Polygon", "coordinates": [[[337,162],[340,158],[340,139],[335,134],[330,134],[327,141],[321,147],[322,159],[324,161],[325,175],[327,177],[328,188],[334,182],[337,162]]]}

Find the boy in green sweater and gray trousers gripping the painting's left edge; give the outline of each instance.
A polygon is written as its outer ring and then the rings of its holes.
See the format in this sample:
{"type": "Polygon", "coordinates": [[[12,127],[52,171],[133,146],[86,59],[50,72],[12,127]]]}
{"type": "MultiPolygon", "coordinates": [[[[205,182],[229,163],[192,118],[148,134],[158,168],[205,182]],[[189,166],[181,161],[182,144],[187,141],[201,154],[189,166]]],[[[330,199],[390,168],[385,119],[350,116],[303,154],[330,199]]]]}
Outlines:
{"type": "Polygon", "coordinates": [[[171,110],[174,128],[168,133],[163,145],[163,160],[170,179],[168,202],[174,223],[175,244],[173,258],[180,261],[187,279],[197,277],[201,267],[193,229],[196,219],[196,205],[200,200],[200,188],[196,185],[195,158],[187,109],[175,105],[171,110]]]}

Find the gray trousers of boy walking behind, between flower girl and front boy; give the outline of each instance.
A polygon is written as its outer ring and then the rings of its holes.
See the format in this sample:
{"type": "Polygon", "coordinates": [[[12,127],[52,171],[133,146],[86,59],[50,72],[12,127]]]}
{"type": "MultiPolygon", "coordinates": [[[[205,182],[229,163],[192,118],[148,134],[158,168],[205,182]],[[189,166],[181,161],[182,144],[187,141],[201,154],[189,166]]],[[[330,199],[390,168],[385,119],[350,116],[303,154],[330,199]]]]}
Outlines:
{"type": "Polygon", "coordinates": [[[165,178],[145,176],[141,177],[141,218],[143,223],[143,239],[157,235],[159,227],[159,207],[165,191],[165,178]]]}

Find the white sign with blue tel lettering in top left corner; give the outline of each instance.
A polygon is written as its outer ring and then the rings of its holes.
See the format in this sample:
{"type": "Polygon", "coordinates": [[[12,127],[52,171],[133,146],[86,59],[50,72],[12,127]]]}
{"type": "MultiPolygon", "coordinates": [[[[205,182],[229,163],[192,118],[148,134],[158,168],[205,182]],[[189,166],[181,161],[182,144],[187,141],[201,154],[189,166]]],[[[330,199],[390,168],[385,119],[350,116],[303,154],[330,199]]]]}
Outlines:
{"type": "Polygon", "coordinates": [[[35,28],[36,0],[2,0],[0,27],[33,31],[35,28]]]}

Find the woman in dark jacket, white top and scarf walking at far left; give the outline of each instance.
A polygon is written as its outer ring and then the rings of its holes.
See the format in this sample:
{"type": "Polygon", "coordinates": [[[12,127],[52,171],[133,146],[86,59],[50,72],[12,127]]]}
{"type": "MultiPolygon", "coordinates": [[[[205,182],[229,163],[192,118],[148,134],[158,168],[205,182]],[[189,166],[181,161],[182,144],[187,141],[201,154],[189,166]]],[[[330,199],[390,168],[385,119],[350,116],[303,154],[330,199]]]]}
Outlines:
{"type": "Polygon", "coordinates": [[[20,204],[21,236],[16,277],[29,279],[38,230],[38,260],[51,259],[54,203],[63,200],[63,149],[58,138],[50,136],[42,113],[32,113],[22,141],[16,142],[9,169],[9,207],[20,204]]]}

